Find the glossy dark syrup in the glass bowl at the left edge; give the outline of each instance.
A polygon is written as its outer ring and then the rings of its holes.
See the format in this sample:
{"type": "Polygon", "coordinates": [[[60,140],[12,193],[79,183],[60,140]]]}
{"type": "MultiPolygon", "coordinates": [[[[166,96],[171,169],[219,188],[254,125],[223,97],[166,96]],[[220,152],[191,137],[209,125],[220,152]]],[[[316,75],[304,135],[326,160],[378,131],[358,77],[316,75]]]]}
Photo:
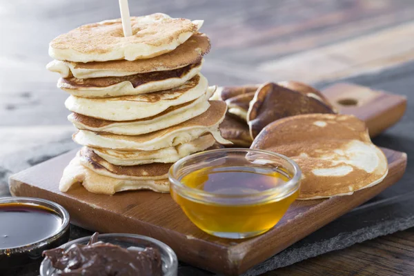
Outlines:
{"type": "Polygon", "coordinates": [[[0,275],[39,272],[43,250],[68,242],[69,226],[46,206],[0,204],[0,275]]]}

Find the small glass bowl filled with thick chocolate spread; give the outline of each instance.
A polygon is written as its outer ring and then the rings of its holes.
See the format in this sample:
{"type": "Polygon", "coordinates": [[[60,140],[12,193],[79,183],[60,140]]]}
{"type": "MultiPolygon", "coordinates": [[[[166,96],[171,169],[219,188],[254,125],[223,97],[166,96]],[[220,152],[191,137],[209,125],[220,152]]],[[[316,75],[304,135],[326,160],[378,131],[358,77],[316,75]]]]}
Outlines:
{"type": "Polygon", "coordinates": [[[41,276],[175,276],[177,256],[157,239],[95,233],[43,252],[41,276]]]}

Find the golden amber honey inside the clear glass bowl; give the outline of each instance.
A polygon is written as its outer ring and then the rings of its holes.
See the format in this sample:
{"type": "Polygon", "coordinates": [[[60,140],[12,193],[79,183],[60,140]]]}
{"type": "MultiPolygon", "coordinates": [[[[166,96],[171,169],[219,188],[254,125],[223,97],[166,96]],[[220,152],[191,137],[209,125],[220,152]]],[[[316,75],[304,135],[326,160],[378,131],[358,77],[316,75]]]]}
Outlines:
{"type": "Polygon", "coordinates": [[[207,166],[180,179],[200,191],[199,196],[175,189],[171,194],[201,230],[219,237],[251,237],[273,228],[295,201],[297,188],[287,194],[284,189],[291,178],[280,167],[207,166]]]}

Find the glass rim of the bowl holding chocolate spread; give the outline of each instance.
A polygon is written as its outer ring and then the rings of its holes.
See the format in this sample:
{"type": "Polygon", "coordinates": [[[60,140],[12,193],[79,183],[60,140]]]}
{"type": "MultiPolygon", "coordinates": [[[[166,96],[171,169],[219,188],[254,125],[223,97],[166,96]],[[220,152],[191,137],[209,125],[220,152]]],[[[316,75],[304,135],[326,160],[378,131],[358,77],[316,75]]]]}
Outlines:
{"type": "MultiPolygon", "coordinates": [[[[80,237],[79,239],[74,239],[70,242],[67,242],[66,244],[62,244],[61,246],[59,246],[59,248],[68,248],[69,246],[72,246],[72,244],[78,244],[80,242],[88,242],[90,240],[90,236],[86,236],[86,237],[80,237]]],[[[167,256],[168,257],[168,261],[170,262],[170,264],[168,264],[167,266],[167,272],[165,275],[169,276],[169,275],[175,275],[174,272],[177,271],[178,269],[178,259],[177,259],[177,255],[175,254],[174,250],[172,250],[172,248],[170,248],[170,246],[168,246],[167,244],[164,244],[164,242],[159,241],[158,239],[154,239],[152,237],[147,237],[144,235],[137,235],[137,234],[128,234],[128,233],[107,233],[107,234],[99,234],[98,235],[98,240],[101,237],[108,237],[108,238],[116,238],[116,237],[130,237],[130,238],[135,238],[135,239],[141,239],[141,240],[145,240],[147,242],[151,242],[152,244],[156,244],[157,246],[159,246],[160,248],[162,248],[163,250],[166,251],[167,256]]],[[[161,255],[162,258],[162,255],[161,255]]],[[[46,269],[46,262],[49,262],[50,264],[50,260],[48,258],[44,258],[43,261],[41,262],[40,265],[40,270],[39,273],[41,273],[41,275],[43,275],[43,270],[46,269]]]]}

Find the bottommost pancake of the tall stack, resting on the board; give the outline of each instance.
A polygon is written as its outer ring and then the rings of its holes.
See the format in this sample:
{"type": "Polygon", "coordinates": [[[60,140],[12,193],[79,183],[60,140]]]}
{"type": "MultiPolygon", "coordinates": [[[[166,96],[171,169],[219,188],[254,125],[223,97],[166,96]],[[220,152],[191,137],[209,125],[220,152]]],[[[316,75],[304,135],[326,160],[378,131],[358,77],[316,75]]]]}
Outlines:
{"type": "Polygon", "coordinates": [[[98,175],[96,172],[81,165],[78,155],[70,161],[63,170],[63,176],[59,182],[59,190],[68,192],[74,185],[80,183],[91,193],[113,195],[124,190],[153,190],[158,193],[168,193],[170,183],[168,179],[117,179],[98,175]]]}

